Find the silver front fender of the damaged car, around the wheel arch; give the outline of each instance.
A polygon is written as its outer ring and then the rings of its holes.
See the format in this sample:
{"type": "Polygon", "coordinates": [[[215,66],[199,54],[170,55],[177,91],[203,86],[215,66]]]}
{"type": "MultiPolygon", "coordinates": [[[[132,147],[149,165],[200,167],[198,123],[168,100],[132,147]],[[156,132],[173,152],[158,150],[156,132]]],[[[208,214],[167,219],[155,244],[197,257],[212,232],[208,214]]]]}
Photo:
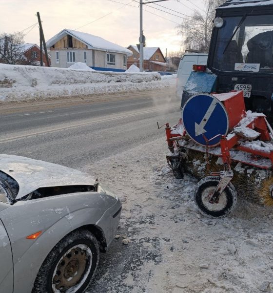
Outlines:
{"type": "Polygon", "coordinates": [[[92,200],[90,194],[66,195],[65,201],[61,202],[59,196],[55,196],[19,203],[17,207],[3,211],[1,218],[10,236],[14,256],[14,293],[31,292],[39,268],[53,247],[72,230],[96,223],[98,226],[109,206],[111,208],[113,202],[117,202],[111,199],[108,203],[108,195],[91,195],[92,200]],[[37,214],[35,210],[41,204],[43,208],[37,214]],[[19,218],[17,213],[20,213],[19,218]],[[26,239],[40,230],[42,233],[37,239],[26,239]]]}

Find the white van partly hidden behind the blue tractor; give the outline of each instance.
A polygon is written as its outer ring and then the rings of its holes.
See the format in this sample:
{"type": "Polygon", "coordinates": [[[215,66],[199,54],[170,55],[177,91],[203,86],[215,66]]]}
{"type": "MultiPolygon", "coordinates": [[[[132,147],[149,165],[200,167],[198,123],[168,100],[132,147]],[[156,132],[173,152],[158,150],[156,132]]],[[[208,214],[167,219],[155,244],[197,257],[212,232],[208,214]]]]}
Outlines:
{"type": "Polygon", "coordinates": [[[193,71],[193,65],[207,65],[207,53],[185,53],[179,63],[176,80],[176,96],[181,99],[182,91],[193,71]]]}

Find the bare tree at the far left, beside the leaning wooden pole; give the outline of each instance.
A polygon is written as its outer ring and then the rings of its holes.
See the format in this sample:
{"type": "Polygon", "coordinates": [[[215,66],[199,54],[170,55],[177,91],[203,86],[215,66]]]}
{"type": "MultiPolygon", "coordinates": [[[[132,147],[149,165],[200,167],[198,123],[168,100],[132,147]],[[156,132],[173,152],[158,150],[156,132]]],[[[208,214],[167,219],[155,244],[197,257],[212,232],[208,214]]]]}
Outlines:
{"type": "Polygon", "coordinates": [[[23,35],[21,33],[0,35],[0,63],[31,65],[32,60],[23,54],[23,35]]]}

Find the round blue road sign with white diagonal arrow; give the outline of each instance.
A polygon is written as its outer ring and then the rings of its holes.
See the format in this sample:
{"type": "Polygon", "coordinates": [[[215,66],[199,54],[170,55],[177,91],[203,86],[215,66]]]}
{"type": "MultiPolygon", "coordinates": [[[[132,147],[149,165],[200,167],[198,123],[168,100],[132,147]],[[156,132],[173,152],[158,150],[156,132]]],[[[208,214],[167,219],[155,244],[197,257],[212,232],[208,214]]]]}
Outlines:
{"type": "Polygon", "coordinates": [[[229,118],[226,109],[217,98],[209,94],[191,97],[183,107],[182,121],[191,139],[202,146],[217,146],[220,135],[228,133],[229,118]],[[206,139],[209,140],[208,143],[206,139]]]}

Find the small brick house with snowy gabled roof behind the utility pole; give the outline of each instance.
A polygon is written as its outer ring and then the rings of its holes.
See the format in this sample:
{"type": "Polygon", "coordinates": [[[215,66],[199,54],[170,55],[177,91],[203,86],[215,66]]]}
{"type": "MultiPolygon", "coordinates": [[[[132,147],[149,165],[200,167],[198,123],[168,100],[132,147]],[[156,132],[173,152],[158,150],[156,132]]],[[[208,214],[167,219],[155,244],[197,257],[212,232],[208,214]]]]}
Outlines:
{"type": "MultiPolygon", "coordinates": [[[[139,68],[139,51],[137,46],[130,45],[127,47],[133,52],[133,55],[127,58],[127,68],[132,64],[139,68]]],[[[143,48],[143,69],[146,71],[165,71],[167,63],[159,47],[143,48]]]]}

